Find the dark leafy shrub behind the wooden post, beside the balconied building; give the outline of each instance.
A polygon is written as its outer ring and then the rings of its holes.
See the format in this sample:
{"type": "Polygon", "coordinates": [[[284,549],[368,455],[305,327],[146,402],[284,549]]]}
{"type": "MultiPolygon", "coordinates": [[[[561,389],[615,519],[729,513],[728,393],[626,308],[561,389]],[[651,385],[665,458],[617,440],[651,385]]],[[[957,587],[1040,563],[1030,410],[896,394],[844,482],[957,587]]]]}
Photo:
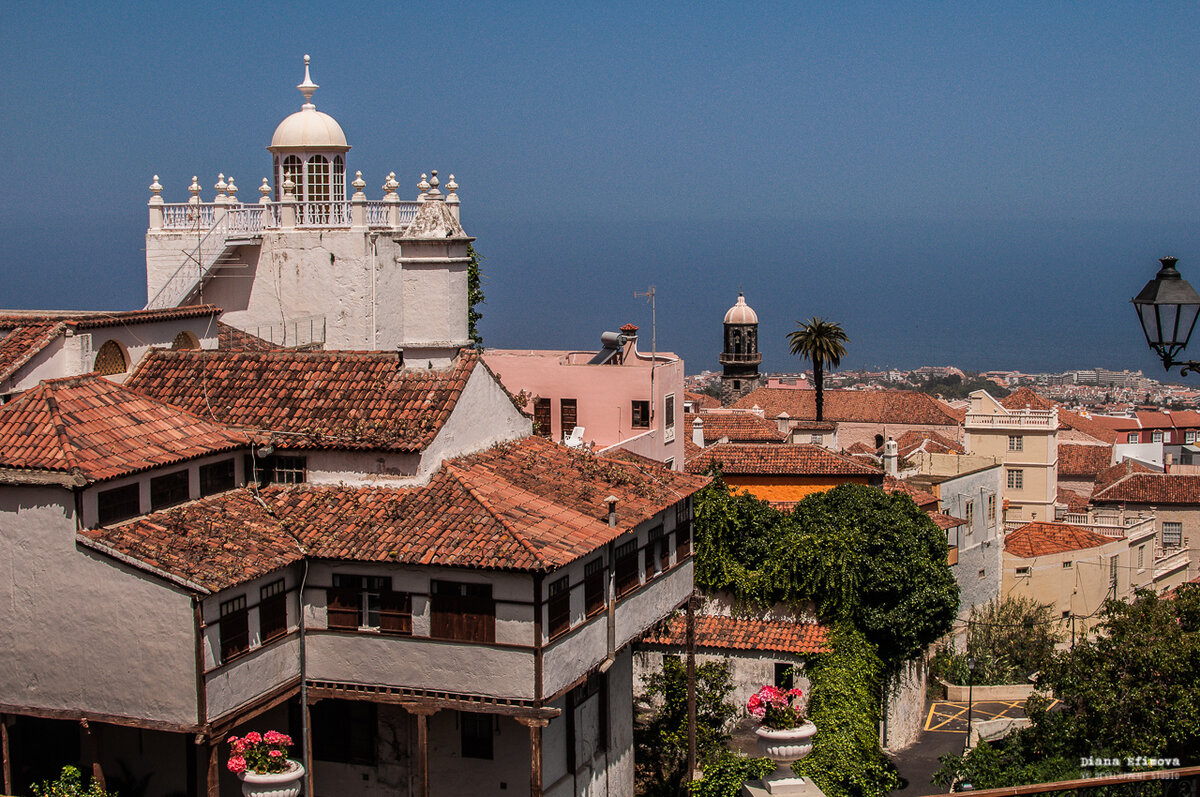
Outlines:
{"type": "MultiPolygon", "coordinates": [[[[733,684],[724,661],[696,665],[696,757],[715,762],[730,741],[737,714],[728,701],[733,684]]],[[[637,793],[677,797],[688,777],[688,672],[682,660],[664,657],[661,672],[646,679],[647,713],[634,726],[637,793]]]]}

